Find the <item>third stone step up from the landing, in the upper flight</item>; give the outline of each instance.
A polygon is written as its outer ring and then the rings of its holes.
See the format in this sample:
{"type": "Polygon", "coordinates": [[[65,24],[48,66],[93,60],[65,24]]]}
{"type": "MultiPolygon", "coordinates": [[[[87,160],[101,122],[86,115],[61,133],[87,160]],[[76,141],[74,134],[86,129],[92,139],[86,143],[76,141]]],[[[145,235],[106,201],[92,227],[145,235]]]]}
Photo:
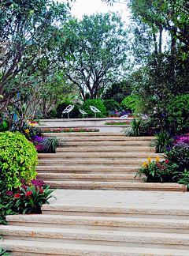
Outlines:
{"type": "Polygon", "coordinates": [[[55,166],[48,166],[48,165],[39,165],[36,168],[36,171],[40,174],[40,173],[116,173],[116,174],[135,174],[136,171],[139,168],[137,166],[113,166],[110,167],[109,166],[93,166],[91,168],[90,165],[55,165],[55,166]]]}

